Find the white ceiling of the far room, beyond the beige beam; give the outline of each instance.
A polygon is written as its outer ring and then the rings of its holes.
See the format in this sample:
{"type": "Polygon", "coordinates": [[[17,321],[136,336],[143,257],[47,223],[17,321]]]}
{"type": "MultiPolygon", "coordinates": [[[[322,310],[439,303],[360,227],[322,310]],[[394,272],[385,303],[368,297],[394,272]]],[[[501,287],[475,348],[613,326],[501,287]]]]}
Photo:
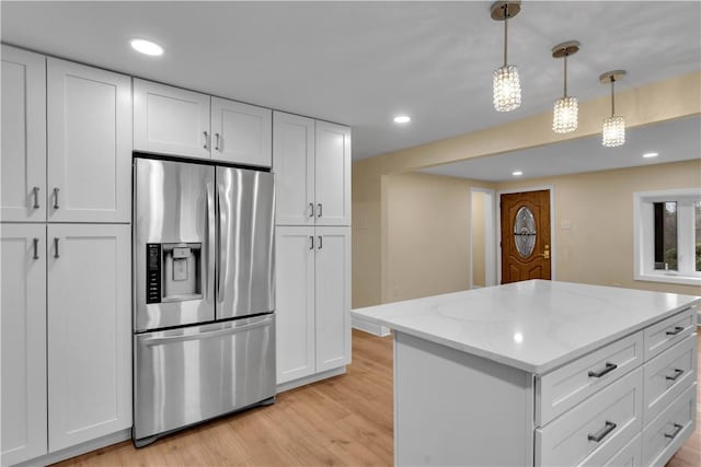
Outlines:
{"type": "MultiPolygon", "coordinates": [[[[618,148],[601,145],[601,136],[547,144],[504,154],[474,157],[452,164],[424,168],[421,172],[471,178],[485,182],[506,182],[553,175],[595,172],[611,168],[653,165],[701,157],[701,118],[680,118],[646,127],[628,129],[625,144],[618,148]],[[643,154],[657,152],[657,157],[643,154]]],[[[699,174],[701,184],[701,174],[699,174]]]]}

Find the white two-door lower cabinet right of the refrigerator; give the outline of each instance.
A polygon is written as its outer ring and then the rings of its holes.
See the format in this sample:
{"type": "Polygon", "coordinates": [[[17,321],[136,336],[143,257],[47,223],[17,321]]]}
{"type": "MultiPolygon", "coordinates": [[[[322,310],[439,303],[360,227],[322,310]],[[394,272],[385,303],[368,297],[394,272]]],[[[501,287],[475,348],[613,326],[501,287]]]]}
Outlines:
{"type": "Polygon", "coordinates": [[[350,229],[277,226],[277,384],[350,363],[350,229]]]}

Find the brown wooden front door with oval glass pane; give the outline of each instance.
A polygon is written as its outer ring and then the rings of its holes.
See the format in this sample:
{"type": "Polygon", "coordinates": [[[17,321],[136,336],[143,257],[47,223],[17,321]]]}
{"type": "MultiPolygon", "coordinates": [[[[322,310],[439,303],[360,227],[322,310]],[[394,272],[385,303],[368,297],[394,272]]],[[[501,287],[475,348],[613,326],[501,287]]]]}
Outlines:
{"type": "Polygon", "coordinates": [[[502,283],[550,279],[550,190],[502,195],[502,283]]]}

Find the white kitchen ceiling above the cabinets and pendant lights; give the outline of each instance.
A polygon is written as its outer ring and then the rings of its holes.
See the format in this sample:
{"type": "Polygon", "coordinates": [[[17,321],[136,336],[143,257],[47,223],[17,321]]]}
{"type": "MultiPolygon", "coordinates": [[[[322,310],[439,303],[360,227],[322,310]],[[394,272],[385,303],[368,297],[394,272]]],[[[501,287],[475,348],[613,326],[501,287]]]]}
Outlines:
{"type": "MultiPolygon", "coordinates": [[[[492,108],[503,24],[473,2],[0,2],[4,43],[141,78],[346,124],[353,156],[384,152],[549,112],[562,92],[553,45],[576,39],[570,93],[619,89],[701,68],[698,1],[524,1],[509,22],[522,106],[492,108]],[[128,46],[145,37],[163,57],[128,46]],[[412,116],[406,126],[392,117],[412,116]]],[[[621,109],[624,113],[624,109],[621,109]]]]}

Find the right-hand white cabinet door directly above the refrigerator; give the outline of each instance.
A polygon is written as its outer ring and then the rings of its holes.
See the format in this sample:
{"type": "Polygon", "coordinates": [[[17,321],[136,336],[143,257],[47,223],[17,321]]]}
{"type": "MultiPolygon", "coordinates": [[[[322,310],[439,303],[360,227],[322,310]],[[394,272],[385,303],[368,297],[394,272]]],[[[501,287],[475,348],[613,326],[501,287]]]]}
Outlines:
{"type": "Polygon", "coordinates": [[[211,159],[269,167],[273,163],[273,110],[211,97],[211,159]]]}

